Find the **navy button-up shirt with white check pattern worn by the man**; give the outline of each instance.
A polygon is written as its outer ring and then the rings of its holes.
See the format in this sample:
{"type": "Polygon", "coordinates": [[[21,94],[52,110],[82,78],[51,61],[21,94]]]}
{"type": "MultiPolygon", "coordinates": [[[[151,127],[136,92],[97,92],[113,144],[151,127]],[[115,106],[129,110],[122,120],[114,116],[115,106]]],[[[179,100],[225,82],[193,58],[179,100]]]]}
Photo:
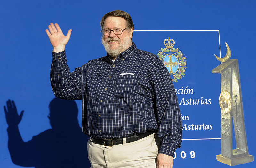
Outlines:
{"type": "Polygon", "coordinates": [[[62,99],[82,99],[82,129],[90,137],[114,139],[158,130],[160,153],[181,146],[179,103],[167,68],[133,43],[113,62],[107,56],[69,71],[65,51],[54,53],[52,90],[62,99]]]}

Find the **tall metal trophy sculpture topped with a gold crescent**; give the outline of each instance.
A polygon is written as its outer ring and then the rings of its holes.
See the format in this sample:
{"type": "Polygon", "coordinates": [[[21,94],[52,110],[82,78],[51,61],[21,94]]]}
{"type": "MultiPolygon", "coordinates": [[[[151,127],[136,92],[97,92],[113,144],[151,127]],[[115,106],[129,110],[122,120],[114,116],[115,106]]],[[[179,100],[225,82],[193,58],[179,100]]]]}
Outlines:
{"type": "Polygon", "coordinates": [[[222,63],[212,70],[212,73],[221,74],[221,154],[216,155],[216,159],[234,166],[252,162],[253,156],[249,155],[247,147],[238,60],[230,59],[231,51],[227,43],[226,46],[227,54],[224,58],[215,55],[222,63]],[[233,150],[232,118],[236,138],[236,149],[233,150]]]}

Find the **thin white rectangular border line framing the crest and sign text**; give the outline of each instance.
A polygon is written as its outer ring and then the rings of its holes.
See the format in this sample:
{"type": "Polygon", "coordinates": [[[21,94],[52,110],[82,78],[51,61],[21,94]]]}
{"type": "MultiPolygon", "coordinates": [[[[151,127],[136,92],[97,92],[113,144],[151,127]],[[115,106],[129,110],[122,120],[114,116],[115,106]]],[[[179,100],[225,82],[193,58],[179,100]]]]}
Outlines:
{"type": "MultiPolygon", "coordinates": [[[[134,30],[134,31],[218,31],[219,47],[220,47],[220,30],[134,30]]],[[[221,58],[221,50],[220,50],[221,58]]],[[[221,138],[195,138],[195,139],[182,139],[182,140],[221,140],[221,138]]]]}

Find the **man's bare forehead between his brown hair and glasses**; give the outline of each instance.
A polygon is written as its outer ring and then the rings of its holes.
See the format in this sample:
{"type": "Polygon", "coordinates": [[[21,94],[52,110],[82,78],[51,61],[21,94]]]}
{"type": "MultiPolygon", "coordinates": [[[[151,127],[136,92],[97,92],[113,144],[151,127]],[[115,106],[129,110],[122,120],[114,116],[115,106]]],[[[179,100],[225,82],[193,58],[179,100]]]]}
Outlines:
{"type": "Polygon", "coordinates": [[[103,29],[105,28],[125,28],[126,20],[121,17],[109,16],[105,19],[103,29]]]}

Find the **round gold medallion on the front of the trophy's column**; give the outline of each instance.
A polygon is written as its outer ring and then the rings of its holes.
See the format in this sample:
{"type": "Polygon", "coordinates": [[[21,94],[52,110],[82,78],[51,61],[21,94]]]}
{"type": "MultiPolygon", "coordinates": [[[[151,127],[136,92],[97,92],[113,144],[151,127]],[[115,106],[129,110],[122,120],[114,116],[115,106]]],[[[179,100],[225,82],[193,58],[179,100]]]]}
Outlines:
{"type": "Polygon", "coordinates": [[[232,108],[232,98],[228,91],[222,91],[219,98],[220,108],[224,113],[230,113],[232,108]]]}

